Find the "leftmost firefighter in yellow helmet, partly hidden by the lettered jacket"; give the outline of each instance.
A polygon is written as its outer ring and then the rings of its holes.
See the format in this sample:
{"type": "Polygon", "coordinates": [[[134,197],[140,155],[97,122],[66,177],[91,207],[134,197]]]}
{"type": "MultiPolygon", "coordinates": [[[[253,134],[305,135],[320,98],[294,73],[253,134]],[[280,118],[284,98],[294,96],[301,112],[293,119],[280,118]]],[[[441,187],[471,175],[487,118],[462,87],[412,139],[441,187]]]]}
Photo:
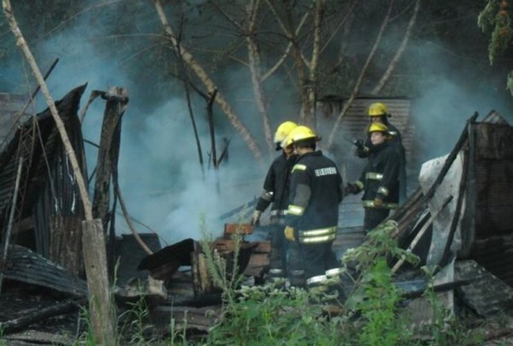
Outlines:
{"type": "Polygon", "coordinates": [[[284,251],[284,216],[288,207],[288,188],[290,182],[290,170],[295,162],[293,147],[284,147],[281,144],[290,131],[295,129],[297,124],[286,121],[279,125],[275,133],[276,150],[281,154],[272,161],[269,167],[266,181],[263,183],[263,192],[253,212],[251,224],[258,225],[262,212],[272,203],[270,213],[270,269],[269,277],[284,277],[286,269],[286,255],[284,251]]]}

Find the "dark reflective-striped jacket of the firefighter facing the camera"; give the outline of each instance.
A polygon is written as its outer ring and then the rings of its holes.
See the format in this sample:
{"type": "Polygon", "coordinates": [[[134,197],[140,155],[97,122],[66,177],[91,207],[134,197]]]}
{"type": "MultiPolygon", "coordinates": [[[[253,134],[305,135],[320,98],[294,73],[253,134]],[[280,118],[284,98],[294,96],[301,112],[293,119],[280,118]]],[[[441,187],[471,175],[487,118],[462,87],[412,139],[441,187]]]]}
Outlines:
{"type": "Polygon", "coordinates": [[[383,201],[378,208],[396,209],[399,203],[399,170],[401,158],[394,143],[374,145],[360,179],[356,185],[364,190],[364,208],[376,208],[374,199],[383,201]]]}

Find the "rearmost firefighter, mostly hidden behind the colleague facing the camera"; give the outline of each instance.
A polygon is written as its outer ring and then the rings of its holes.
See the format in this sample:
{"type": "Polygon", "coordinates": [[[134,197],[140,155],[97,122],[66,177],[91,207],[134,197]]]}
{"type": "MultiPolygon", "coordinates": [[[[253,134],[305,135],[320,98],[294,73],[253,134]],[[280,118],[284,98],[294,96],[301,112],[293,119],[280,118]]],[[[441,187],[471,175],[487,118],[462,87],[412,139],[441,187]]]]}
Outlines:
{"type": "MultiPolygon", "coordinates": [[[[381,123],[385,125],[388,130],[387,134],[390,137],[389,142],[394,144],[399,153],[399,157],[401,158],[401,170],[399,171],[399,201],[403,203],[406,201],[407,192],[406,192],[406,150],[403,146],[403,140],[401,137],[401,132],[394,127],[394,125],[388,122],[388,118],[390,118],[390,112],[388,111],[388,107],[386,104],[381,102],[375,102],[369,106],[367,109],[367,115],[370,117],[370,124],[367,127],[367,131],[369,127],[374,123],[381,123]]],[[[367,136],[365,143],[363,140],[358,140],[356,142],[356,156],[360,158],[367,158],[369,154],[372,153],[374,149],[372,142],[370,140],[370,134],[367,136]]]]}

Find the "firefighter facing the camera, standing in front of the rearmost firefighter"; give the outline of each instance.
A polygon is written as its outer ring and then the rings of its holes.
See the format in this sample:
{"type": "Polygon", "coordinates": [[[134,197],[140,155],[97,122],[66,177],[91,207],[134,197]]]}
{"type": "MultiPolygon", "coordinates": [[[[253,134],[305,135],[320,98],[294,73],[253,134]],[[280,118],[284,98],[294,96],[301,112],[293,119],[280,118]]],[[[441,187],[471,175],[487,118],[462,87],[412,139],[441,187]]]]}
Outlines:
{"type": "Polygon", "coordinates": [[[360,179],[347,184],[346,194],[364,191],[362,200],[365,208],[363,229],[365,234],[386,219],[390,210],[399,205],[399,174],[401,158],[392,143],[388,128],[381,122],[369,127],[372,151],[360,179]]]}

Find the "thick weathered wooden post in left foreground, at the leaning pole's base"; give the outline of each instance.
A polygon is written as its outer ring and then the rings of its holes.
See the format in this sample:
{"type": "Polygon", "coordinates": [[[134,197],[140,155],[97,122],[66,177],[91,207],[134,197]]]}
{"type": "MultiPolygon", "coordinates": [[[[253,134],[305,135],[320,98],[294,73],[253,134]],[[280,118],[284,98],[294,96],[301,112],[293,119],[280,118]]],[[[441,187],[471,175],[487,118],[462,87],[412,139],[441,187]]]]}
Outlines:
{"type": "Polygon", "coordinates": [[[116,325],[114,324],[114,305],[110,296],[107,273],[107,251],[105,233],[101,219],[82,222],[82,243],[84,244],[84,262],[89,286],[89,316],[98,345],[116,345],[116,325]],[[92,291],[94,287],[94,291],[92,291]]]}

